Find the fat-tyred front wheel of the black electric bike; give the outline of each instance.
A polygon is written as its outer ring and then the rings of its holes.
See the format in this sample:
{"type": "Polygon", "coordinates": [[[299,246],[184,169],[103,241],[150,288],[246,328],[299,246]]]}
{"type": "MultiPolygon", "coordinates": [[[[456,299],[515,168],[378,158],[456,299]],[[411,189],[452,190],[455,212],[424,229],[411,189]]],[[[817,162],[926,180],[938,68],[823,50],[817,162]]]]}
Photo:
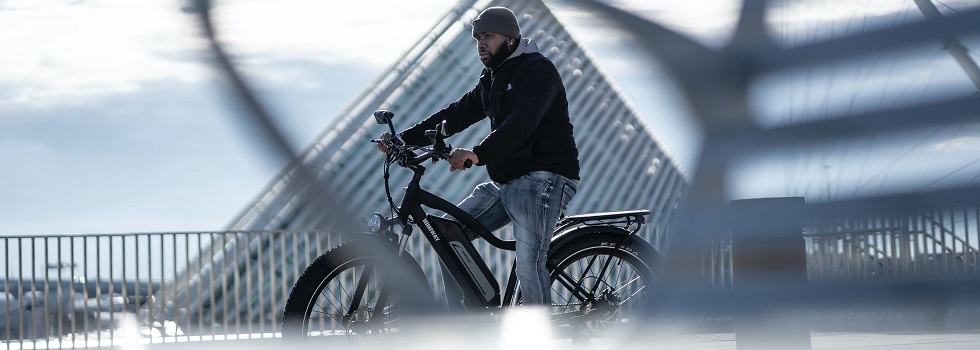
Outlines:
{"type": "Polygon", "coordinates": [[[405,305],[420,306],[418,299],[425,297],[411,289],[425,282],[418,263],[396,251],[391,242],[368,239],[340,245],[314,260],[286,301],[283,339],[390,341],[412,312],[405,305]]]}

